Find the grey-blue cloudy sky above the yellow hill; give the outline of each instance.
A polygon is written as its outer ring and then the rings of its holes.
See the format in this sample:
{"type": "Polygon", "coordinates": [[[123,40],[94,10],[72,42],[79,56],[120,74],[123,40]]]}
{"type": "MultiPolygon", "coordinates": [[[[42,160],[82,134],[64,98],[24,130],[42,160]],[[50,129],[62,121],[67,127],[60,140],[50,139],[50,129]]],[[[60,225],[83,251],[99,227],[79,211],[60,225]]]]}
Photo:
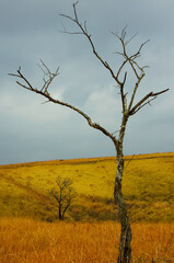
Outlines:
{"type": "MultiPolygon", "coordinates": [[[[53,159],[114,156],[113,142],[92,129],[77,113],[24,90],[9,77],[21,66],[34,87],[40,88],[39,59],[60,75],[51,94],[81,108],[111,133],[119,129],[120,102],[116,83],[93,56],[82,35],[60,33],[62,24],[77,31],[59,13],[73,15],[71,0],[0,0],[0,164],[53,159]]],[[[79,20],[88,21],[97,53],[116,71],[121,62],[119,43],[109,31],[127,37],[129,54],[143,47],[148,65],[136,100],[149,91],[170,91],[130,117],[125,155],[165,152],[174,148],[174,1],[80,0],[79,20]]],[[[127,79],[131,91],[134,78],[127,79]]],[[[129,95],[128,93],[128,95],[129,95]]]]}

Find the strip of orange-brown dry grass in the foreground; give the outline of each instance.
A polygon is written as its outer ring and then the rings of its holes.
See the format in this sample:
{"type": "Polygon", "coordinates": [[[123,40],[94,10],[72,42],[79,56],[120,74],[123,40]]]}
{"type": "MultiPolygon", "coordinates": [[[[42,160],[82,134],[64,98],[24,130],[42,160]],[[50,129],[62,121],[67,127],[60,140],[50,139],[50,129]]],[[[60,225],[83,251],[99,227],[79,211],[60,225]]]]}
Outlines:
{"type": "MultiPolygon", "coordinates": [[[[2,263],[114,263],[119,225],[0,219],[2,263]]],[[[174,224],[134,224],[132,262],[173,263],[174,224]]]]}

